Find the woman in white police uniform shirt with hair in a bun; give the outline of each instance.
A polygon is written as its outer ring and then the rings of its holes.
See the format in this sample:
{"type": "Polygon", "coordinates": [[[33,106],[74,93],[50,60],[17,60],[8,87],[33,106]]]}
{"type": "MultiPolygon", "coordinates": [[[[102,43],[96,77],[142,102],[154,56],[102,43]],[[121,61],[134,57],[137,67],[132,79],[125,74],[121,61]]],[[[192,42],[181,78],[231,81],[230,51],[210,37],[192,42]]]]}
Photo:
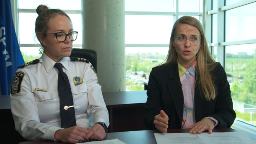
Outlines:
{"type": "Polygon", "coordinates": [[[36,12],[35,33],[43,53],[14,75],[11,112],[16,130],[28,140],[78,143],[104,139],[109,119],[97,74],[88,60],[69,57],[77,36],[70,17],[45,5],[39,5],[36,12]],[[76,126],[69,128],[61,127],[55,63],[63,65],[72,91],[74,105],[70,107],[75,110],[76,126]]]}

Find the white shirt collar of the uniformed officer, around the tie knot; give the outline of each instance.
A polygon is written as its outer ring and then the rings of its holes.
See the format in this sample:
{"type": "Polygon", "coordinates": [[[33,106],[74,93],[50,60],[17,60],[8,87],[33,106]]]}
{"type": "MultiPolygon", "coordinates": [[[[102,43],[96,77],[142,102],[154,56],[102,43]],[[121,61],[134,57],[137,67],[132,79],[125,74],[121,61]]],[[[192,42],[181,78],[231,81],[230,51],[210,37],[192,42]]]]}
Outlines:
{"type": "MultiPolygon", "coordinates": [[[[51,58],[49,58],[45,53],[42,54],[42,65],[44,66],[45,70],[49,73],[54,64],[56,62],[54,62],[51,58]]],[[[61,63],[63,65],[63,67],[68,71],[69,70],[69,66],[68,66],[68,57],[63,57],[59,63],[61,63]]]]}

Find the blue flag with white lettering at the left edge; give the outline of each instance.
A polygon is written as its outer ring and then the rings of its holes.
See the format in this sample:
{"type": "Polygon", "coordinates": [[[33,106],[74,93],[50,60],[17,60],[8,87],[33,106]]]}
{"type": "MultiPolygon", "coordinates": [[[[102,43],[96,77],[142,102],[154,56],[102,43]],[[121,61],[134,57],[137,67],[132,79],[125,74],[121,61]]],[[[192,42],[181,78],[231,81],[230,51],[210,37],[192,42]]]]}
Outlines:
{"type": "Polygon", "coordinates": [[[11,15],[11,1],[0,2],[0,91],[9,95],[17,67],[24,64],[11,15]]]}

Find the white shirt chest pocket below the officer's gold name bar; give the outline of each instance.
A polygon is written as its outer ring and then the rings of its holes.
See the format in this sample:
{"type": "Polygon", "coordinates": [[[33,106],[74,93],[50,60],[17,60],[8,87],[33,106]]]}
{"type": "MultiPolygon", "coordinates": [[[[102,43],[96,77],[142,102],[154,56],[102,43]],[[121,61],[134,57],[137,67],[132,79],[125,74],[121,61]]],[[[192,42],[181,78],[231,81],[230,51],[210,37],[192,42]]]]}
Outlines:
{"type": "Polygon", "coordinates": [[[51,121],[59,113],[59,99],[55,92],[34,92],[34,97],[41,122],[51,121]]]}

